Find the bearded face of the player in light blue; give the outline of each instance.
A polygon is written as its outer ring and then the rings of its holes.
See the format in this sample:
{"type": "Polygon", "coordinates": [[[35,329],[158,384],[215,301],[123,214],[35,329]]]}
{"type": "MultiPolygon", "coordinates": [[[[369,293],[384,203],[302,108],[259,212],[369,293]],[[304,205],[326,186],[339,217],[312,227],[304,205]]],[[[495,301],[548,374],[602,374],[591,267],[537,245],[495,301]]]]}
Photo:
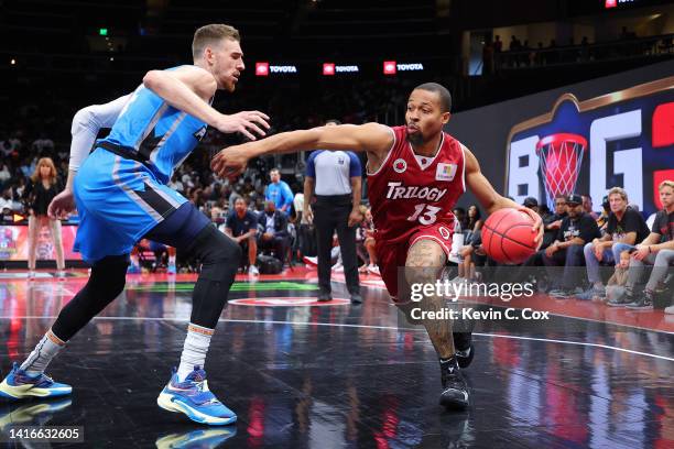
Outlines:
{"type": "Polygon", "coordinates": [[[241,72],[246,68],[241,44],[233,39],[215,41],[204,48],[203,58],[215,77],[218,89],[233,92],[241,72]]]}

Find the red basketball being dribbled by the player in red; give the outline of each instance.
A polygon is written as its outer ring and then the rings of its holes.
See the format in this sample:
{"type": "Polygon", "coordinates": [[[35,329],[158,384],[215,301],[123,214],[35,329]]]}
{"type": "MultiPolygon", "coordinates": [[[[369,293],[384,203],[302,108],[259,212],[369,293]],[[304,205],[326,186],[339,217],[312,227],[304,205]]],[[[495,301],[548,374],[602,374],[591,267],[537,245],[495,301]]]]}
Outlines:
{"type": "Polygon", "coordinates": [[[487,255],[500,263],[519,264],[537,251],[533,220],[514,208],[491,213],[482,227],[482,247],[487,255]]]}

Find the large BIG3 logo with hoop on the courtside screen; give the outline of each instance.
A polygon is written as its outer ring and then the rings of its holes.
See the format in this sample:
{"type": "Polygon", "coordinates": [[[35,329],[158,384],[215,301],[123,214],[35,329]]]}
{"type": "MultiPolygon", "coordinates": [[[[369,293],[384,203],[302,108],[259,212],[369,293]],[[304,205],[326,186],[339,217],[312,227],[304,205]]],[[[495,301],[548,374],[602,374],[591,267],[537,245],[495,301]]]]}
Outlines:
{"type": "MultiPolygon", "coordinates": [[[[506,190],[515,201],[589,194],[613,186],[646,213],[657,185],[674,179],[674,76],[578,101],[564,94],[551,112],[517,124],[507,145],[506,190]]],[[[595,207],[595,209],[598,209],[595,207]]]]}

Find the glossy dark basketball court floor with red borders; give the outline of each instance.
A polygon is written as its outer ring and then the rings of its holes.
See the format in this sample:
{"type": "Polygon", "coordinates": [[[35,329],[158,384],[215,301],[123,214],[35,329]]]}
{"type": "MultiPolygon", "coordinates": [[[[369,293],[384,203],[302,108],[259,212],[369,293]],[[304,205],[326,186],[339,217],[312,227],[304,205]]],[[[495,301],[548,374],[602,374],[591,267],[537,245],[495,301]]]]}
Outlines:
{"type": "MultiPolygon", "coordinates": [[[[0,276],[3,376],[87,274],[0,276]]],[[[91,448],[674,447],[674,316],[513,300],[548,310],[551,320],[478,327],[476,358],[464,371],[472,404],[449,412],[437,404],[439,370],[425,331],[399,326],[380,280],[363,278],[362,305],[344,299],[339,282],[335,300],[318,304],[316,273],[304,267],[237,278],[206,369],[210,388],[239,419],[192,423],[155,401],[180,358],[195,280],[128,276],[126,293],[47,370],[74,385],[72,397],[2,402],[0,431],[84,426],[84,446],[70,446],[91,448]]]]}

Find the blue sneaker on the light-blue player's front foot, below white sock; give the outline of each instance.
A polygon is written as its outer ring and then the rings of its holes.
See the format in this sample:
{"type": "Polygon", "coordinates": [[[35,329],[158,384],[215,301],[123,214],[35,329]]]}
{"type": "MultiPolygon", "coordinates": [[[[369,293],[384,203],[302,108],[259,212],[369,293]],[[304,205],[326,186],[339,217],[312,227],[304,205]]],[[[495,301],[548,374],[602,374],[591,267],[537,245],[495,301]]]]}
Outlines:
{"type": "Polygon", "coordinates": [[[225,426],[237,421],[237,415],[222,405],[208,390],[206,371],[194,366],[184,382],[178,382],[174,369],[168,384],[156,398],[160,407],[174,413],[184,413],[194,421],[210,426],[225,426]]]}

